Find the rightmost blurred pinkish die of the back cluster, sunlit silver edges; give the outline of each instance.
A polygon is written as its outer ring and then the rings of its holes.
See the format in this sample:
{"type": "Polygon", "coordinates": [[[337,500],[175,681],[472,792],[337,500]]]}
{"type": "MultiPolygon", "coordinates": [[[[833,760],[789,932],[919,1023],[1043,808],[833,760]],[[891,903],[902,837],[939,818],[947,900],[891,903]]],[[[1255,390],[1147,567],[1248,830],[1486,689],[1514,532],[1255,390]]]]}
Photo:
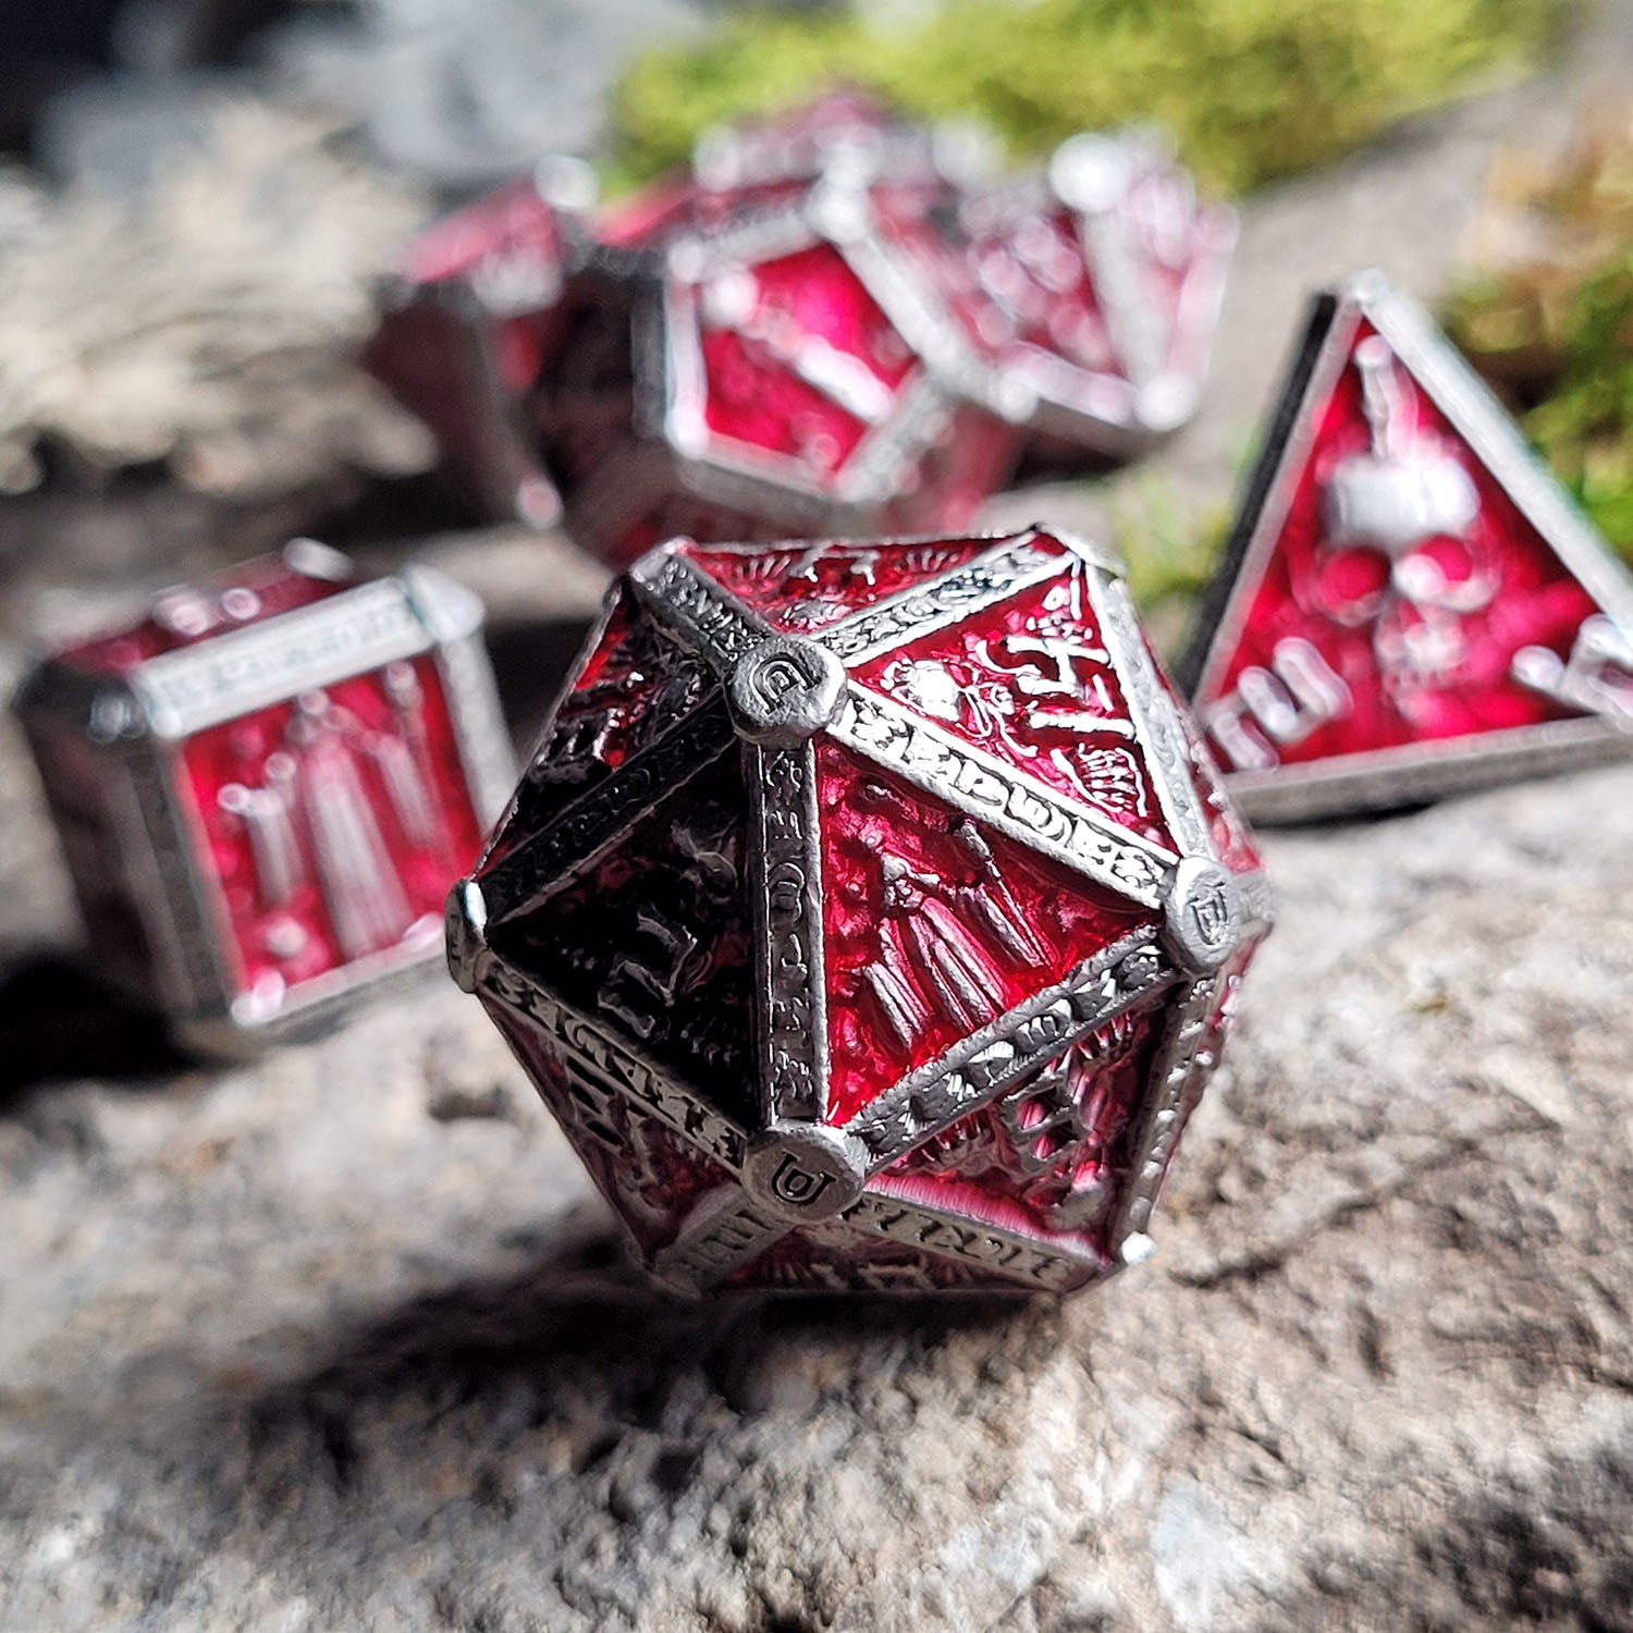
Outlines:
{"type": "Polygon", "coordinates": [[[1127,457],[1195,412],[1236,245],[1150,131],[1063,142],[1047,171],[972,193],[970,265],[1006,331],[999,377],[1042,447],[1127,457]]]}

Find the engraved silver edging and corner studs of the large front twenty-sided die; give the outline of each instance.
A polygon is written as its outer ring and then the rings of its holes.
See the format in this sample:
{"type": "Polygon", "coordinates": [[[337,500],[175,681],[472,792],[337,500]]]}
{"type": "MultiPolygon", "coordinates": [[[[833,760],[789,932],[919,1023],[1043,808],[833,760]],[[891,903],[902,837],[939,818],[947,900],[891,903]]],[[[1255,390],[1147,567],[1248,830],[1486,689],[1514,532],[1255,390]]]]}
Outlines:
{"type": "MultiPolygon", "coordinates": [[[[1228,875],[1223,867],[1190,782],[1177,705],[1138,630],[1117,558],[1053,527],[986,537],[988,549],[972,560],[808,637],[774,632],[681,555],[679,541],[642,557],[630,573],[637,596],[683,650],[709,665],[717,691],[537,833],[508,836],[506,848],[478,864],[449,897],[449,968],[495,1014],[513,1047],[518,1029],[537,1037],[555,1050],[570,1091],[578,1083],[585,1094],[617,1094],[629,1115],[658,1117],[735,1181],[705,1199],[652,1262],[655,1274],[681,1292],[715,1287],[792,1230],[828,1218],[836,1228],[911,1241],[932,1259],[977,1261],[1016,1290],[1065,1290],[1150,1251],[1151,1205],[1204,1076],[1197,1060],[1202,1026],[1226,963],[1269,929],[1270,890],[1259,872],[1228,875]],[[877,696],[846,673],[848,663],[880,645],[957,622],[1060,573],[1063,558],[1039,549],[1045,539],[1084,570],[1158,802],[1177,838],[1176,851],[1120,828],[1089,805],[1061,799],[994,756],[968,745],[954,748],[924,722],[874,722],[869,710],[877,696]],[[768,663],[785,673],[803,668],[807,676],[795,704],[774,717],[751,701],[753,676],[768,663]],[[1088,959],[1065,981],[910,1073],[843,1125],[828,1124],[826,1029],[785,1027],[774,1019],[779,1012],[820,1017],[825,1003],[812,741],[818,732],[1119,893],[1159,906],[1164,928],[1135,932],[1088,959]],[[921,741],[924,733],[937,741],[921,741]],[[950,748],[957,761],[949,758],[950,748]],[[725,1117],[694,1084],[643,1057],[639,1043],[614,1035],[598,1016],[573,1009],[488,941],[490,929],[545,905],[679,781],[733,750],[743,758],[751,790],[748,885],[759,929],[754,1030],[763,1099],[753,1125],[725,1117]],[[766,820],[772,808],[776,825],[766,820]],[[1187,921],[1199,887],[1228,900],[1217,944],[1200,947],[1187,921]],[[975,1225],[880,1187],[880,1174],[903,1155],[1001,1097],[1076,1039],[1163,993],[1171,996],[1172,1016],[1138,1117],[1128,1181],[1115,1204],[1110,1257],[1019,1228],[975,1225]],[[594,1063],[614,1058],[624,1061],[617,1070],[594,1063]],[[790,1186],[790,1174],[799,1176],[799,1186],[790,1186]],[[802,1187],[803,1194],[790,1195],[802,1187]]],[[[549,1104],[557,1106],[558,1092],[541,1083],[549,1104]]],[[[565,1101],[557,1109],[570,1115],[565,1101]]],[[[903,1285],[918,1284],[910,1277],[903,1285]]]]}

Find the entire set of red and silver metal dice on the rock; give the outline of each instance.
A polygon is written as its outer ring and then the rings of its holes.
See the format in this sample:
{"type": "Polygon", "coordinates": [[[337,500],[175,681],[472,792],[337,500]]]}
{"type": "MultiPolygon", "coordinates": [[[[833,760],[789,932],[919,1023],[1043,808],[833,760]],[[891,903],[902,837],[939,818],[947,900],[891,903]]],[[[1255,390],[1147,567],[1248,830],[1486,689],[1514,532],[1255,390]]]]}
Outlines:
{"type": "Polygon", "coordinates": [[[1022,446],[1190,415],[1233,237],[1146,136],[993,180],[854,93],[447,217],[372,366],[492,513],[632,565],[514,789],[420,567],[302,541],[38,665],[103,968],[232,1052],[446,937],[684,1292],[1143,1257],[1270,923],[1238,808],[1633,745],[1633,580],[1377,274],[1315,302],[1181,691],[1112,552],[970,536],[1022,446]]]}

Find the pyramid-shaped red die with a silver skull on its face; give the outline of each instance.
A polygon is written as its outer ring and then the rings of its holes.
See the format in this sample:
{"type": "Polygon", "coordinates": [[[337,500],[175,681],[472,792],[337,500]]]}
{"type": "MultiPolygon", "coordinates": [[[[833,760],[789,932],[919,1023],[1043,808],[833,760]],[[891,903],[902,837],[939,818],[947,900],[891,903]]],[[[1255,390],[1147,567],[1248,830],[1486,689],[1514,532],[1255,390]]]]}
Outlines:
{"type": "Polygon", "coordinates": [[[1633,581],[1422,312],[1319,296],[1270,426],[1186,663],[1243,808],[1633,748],[1633,581]]]}

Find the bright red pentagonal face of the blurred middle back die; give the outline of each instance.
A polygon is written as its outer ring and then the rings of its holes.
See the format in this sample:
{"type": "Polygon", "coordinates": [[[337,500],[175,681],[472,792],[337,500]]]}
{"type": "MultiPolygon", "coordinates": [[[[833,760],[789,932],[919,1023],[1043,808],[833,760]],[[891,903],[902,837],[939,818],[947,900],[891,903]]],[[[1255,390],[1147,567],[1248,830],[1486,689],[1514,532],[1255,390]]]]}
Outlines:
{"type": "Polygon", "coordinates": [[[831,478],[890,418],[918,367],[828,243],[717,271],[697,307],[709,429],[812,480],[831,478]]]}

